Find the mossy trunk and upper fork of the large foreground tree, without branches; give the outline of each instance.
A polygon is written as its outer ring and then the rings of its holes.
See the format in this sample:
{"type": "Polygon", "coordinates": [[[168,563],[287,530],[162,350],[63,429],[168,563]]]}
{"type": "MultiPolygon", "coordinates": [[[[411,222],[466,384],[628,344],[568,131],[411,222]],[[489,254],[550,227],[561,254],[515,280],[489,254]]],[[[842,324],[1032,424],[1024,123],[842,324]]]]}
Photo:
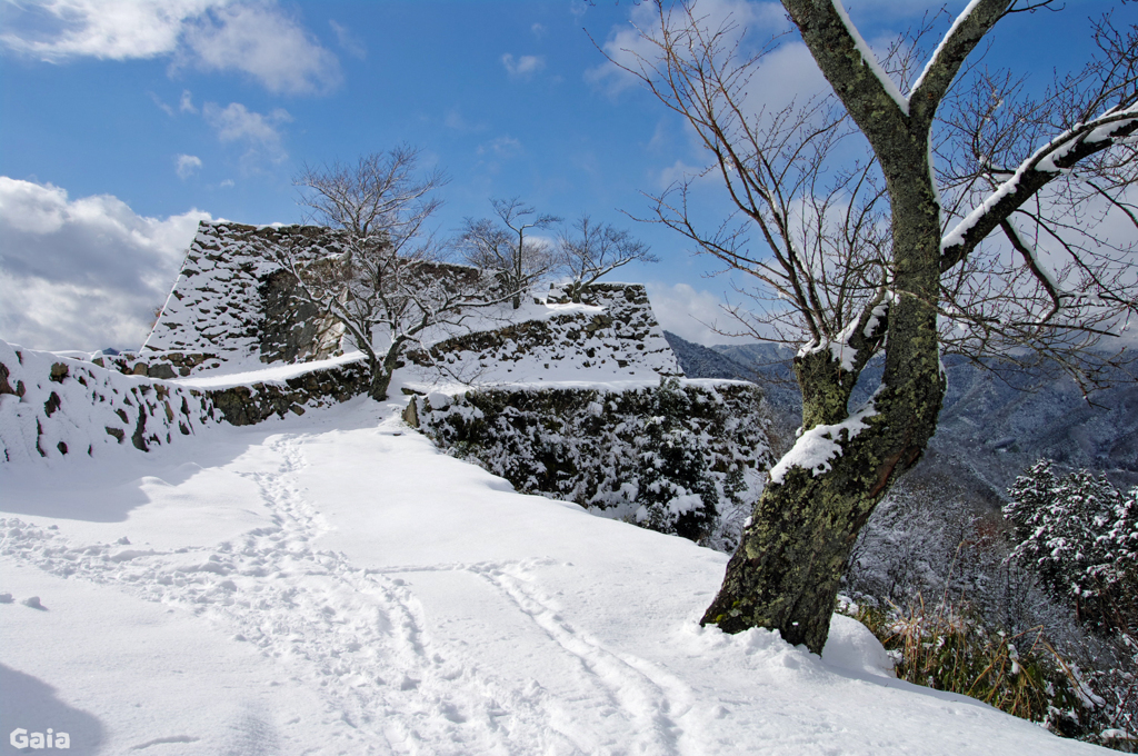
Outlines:
{"type": "MultiPolygon", "coordinates": [[[[828,348],[795,360],[807,442],[835,444],[825,462],[791,466],[754,508],[702,624],[735,633],[761,626],[820,654],[842,568],[861,526],[890,485],[921,459],[937,429],[945,393],[937,334],[940,207],[929,163],[932,117],[964,58],[1009,0],[981,0],[938,50],[914,101],[891,94],[863,61],[832,2],[783,0],[823,74],[873,147],[892,213],[893,286],[885,324],[885,369],[873,408],[848,422],[857,373],[828,348]],[[912,108],[910,108],[912,106],[912,108]]],[[[865,315],[859,328],[867,322],[865,315]]],[[[850,343],[868,334],[855,332],[850,343]]],[[[800,458],[805,459],[805,458],[800,458]]]]}

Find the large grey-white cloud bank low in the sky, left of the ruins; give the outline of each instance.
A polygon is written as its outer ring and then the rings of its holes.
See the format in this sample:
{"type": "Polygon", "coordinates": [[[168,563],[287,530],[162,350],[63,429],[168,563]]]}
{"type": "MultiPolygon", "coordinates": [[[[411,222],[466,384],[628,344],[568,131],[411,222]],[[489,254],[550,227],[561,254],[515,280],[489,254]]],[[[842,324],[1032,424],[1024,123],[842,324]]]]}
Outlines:
{"type": "Polygon", "coordinates": [[[0,337],[32,348],[138,348],[199,220],[0,176],[0,337]]]}

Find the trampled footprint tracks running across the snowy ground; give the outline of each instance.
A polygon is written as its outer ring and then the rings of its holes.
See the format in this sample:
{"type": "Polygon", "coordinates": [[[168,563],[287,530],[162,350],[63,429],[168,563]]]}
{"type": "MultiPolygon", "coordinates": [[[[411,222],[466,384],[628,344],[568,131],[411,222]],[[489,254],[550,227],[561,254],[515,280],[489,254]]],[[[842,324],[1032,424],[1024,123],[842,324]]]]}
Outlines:
{"type": "MultiPolygon", "coordinates": [[[[337,725],[347,753],[691,753],[684,743],[699,738],[677,721],[691,708],[691,691],[572,627],[531,586],[529,570],[550,560],[374,569],[314,548],[328,525],[296,485],[303,444],[303,435],[273,437],[279,469],[242,474],[261,491],[271,527],[214,547],[158,551],[77,544],[10,518],[0,519],[0,554],[185,609],[253,643],[286,663],[294,681],[320,690],[322,724],[337,725]],[[464,573],[530,622],[547,641],[541,652],[560,690],[537,681],[519,688],[461,642],[437,650],[405,580],[431,573],[447,573],[448,582],[464,573]]],[[[470,591],[485,602],[480,593],[470,591]]]]}

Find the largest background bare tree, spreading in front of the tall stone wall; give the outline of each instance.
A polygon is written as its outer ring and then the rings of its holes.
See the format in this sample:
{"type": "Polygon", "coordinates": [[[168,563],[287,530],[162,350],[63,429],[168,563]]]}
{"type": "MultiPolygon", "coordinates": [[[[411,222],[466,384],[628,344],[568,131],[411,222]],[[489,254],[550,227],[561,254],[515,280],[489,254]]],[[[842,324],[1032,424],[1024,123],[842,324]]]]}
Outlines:
{"type": "Polygon", "coordinates": [[[484,271],[439,260],[424,224],[442,202],[439,171],[415,175],[419,153],[401,146],[355,164],[305,166],[295,179],[314,220],[339,230],[336,254],[304,256],[283,247],[281,264],[296,281],[295,297],[344,324],[368,355],[369,395],[387,398],[391,375],[409,343],[428,329],[461,321],[485,305],[492,280],[484,271]]]}

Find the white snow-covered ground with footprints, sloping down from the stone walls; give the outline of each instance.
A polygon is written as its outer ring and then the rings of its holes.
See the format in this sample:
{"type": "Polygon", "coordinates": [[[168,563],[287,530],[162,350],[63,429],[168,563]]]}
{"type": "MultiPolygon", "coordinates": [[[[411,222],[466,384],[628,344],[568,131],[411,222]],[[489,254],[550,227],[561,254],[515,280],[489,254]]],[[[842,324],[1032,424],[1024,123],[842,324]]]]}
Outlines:
{"type": "Polygon", "coordinates": [[[851,619],[825,660],[701,628],[726,556],[516,494],[402,405],[0,465],[0,753],[1095,750],[888,676],[851,619]]]}

